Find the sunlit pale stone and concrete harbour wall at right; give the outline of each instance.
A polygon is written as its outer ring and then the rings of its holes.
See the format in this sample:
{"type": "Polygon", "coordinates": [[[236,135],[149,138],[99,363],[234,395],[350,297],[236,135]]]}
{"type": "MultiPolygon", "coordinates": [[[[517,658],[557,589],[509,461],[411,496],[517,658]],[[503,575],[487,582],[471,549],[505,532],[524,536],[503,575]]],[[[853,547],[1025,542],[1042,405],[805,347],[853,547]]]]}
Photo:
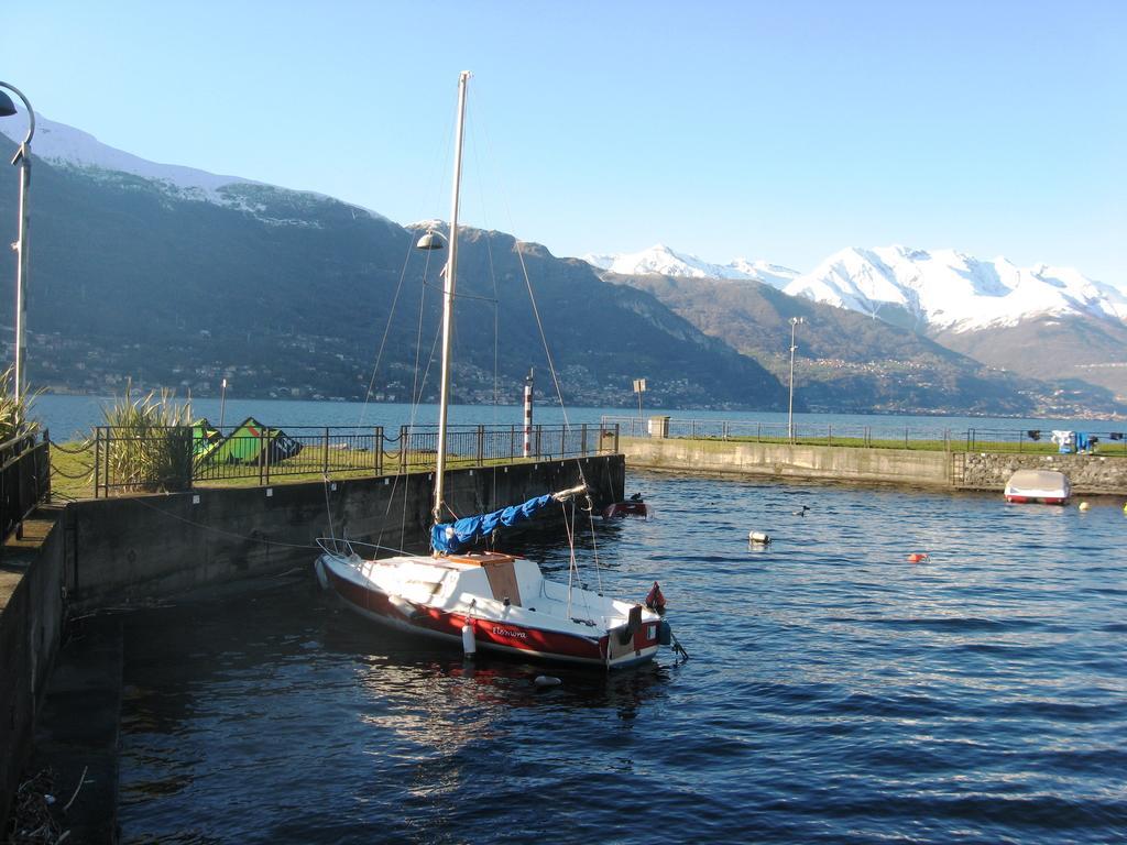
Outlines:
{"type": "Polygon", "coordinates": [[[742,441],[623,437],[631,469],[894,483],[1001,492],[1014,470],[1058,470],[1080,496],[1127,496],[1127,459],[1101,455],[929,452],[742,441]]]}

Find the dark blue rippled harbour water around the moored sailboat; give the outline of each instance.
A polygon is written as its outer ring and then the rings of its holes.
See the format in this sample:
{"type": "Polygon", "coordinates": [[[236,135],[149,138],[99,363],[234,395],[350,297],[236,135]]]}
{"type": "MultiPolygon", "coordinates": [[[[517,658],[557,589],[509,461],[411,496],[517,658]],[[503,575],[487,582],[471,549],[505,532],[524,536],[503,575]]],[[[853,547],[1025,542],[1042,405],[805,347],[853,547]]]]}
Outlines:
{"type": "Polygon", "coordinates": [[[124,840],[1127,837],[1121,501],[636,489],[657,517],[596,526],[603,584],[660,580],[687,662],[543,691],[540,667],[392,637],[311,578],[128,616],[124,840]]]}

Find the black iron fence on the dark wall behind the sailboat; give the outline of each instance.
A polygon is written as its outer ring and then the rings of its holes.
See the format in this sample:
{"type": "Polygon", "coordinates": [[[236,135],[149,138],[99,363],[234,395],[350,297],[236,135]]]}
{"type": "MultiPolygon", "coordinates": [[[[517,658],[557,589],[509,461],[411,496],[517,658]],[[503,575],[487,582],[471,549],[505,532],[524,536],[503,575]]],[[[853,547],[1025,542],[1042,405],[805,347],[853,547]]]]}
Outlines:
{"type": "MultiPolygon", "coordinates": [[[[99,426],[92,451],[95,497],[112,492],[174,491],[208,483],[265,484],[282,478],[384,475],[434,470],[436,426],[247,426],[224,435],[179,426],[144,434],[99,426]]],[[[616,452],[616,426],[451,426],[446,465],[487,466],[616,452]],[[525,447],[527,441],[527,447],[525,447]]]]}

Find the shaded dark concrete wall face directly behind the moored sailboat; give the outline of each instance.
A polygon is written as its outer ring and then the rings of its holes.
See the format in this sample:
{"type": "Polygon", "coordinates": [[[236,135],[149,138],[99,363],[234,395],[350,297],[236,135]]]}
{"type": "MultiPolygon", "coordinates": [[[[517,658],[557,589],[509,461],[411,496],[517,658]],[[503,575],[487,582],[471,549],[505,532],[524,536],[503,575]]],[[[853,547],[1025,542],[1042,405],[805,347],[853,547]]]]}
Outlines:
{"type": "MultiPolygon", "coordinates": [[[[458,470],[446,500],[458,514],[504,507],[578,483],[580,464],[597,501],[621,498],[623,459],[612,455],[458,470]]],[[[131,605],[310,567],[319,536],[425,549],[433,484],[416,473],[76,502],[65,514],[72,606],[131,605]]]]}

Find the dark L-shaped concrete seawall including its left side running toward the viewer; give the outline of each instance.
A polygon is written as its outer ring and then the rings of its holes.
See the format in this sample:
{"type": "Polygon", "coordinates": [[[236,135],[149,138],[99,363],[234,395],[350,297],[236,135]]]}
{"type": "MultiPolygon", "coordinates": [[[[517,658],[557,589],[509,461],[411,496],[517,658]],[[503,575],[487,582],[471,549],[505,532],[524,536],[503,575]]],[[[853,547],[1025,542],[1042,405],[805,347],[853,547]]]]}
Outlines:
{"type": "MultiPolygon", "coordinates": [[[[446,501],[456,514],[490,510],[574,487],[580,472],[596,506],[623,498],[625,463],[621,454],[610,454],[454,470],[446,477],[446,501]]],[[[433,474],[416,473],[69,504],[0,611],[0,830],[7,829],[10,802],[28,762],[68,616],[203,597],[293,570],[312,571],[318,536],[347,535],[392,549],[425,550],[433,484],[433,474]]],[[[530,530],[558,524],[559,512],[548,509],[530,530]]],[[[112,643],[107,649],[113,651],[112,643]]],[[[112,670],[109,666],[103,675],[112,670]]],[[[109,682],[98,682],[98,688],[83,691],[83,701],[104,694],[109,682]]],[[[79,701],[68,688],[53,701],[68,699],[79,701]]],[[[113,746],[117,714],[104,715],[114,721],[103,745],[113,746]]],[[[39,728],[42,732],[43,724],[39,728]]],[[[57,768],[57,760],[53,763],[57,768]]],[[[116,764],[106,771],[115,773],[116,764]]],[[[104,791],[82,792],[89,799],[80,797],[79,804],[109,800],[104,791]]],[[[112,818],[110,809],[89,808],[98,824],[112,818]]],[[[78,804],[72,810],[81,812],[78,804]]]]}

